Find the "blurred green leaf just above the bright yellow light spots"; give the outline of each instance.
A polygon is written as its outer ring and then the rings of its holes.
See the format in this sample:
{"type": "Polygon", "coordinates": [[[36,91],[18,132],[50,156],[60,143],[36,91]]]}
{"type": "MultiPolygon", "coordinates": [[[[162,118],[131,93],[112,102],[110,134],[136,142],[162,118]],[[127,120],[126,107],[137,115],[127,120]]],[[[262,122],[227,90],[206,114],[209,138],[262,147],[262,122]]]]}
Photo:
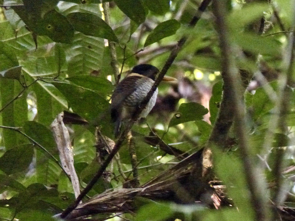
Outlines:
{"type": "Polygon", "coordinates": [[[220,59],[216,56],[194,55],[191,63],[199,69],[218,71],[221,69],[220,59]]]}

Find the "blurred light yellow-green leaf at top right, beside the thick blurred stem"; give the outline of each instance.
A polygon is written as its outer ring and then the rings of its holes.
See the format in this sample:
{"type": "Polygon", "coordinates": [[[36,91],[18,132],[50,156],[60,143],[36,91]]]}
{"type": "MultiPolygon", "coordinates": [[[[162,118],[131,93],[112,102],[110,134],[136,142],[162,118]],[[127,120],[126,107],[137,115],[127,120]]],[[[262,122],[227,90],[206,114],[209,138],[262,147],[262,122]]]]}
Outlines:
{"type": "Polygon", "coordinates": [[[267,3],[246,4],[241,9],[233,10],[227,17],[228,24],[233,30],[254,22],[263,17],[263,12],[269,9],[267,3]]]}

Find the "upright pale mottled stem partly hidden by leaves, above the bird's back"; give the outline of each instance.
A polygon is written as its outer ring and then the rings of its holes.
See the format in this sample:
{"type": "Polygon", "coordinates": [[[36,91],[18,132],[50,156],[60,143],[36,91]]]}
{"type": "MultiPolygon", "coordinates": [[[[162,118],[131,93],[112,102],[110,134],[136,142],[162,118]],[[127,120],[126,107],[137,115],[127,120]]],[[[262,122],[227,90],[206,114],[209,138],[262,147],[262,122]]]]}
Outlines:
{"type": "MultiPolygon", "coordinates": [[[[106,24],[108,24],[111,27],[109,2],[103,2],[102,8],[104,9],[104,19],[106,21],[106,24]]],[[[111,54],[111,66],[112,66],[114,77],[115,77],[115,85],[117,85],[120,80],[120,73],[119,73],[119,67],[118,67],[115,42],[112,42],[112,41],[108,41],[108,42],[109,42],[109,49],[111,54]]]]}

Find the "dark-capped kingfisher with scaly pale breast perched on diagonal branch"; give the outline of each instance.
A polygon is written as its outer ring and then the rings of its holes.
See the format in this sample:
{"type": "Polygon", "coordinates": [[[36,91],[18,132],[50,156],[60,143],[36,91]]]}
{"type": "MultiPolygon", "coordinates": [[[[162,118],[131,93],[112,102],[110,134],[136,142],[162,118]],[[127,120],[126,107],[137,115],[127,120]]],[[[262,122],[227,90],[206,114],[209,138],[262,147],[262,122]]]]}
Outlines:
{"type": "MultiPolygon", "coordinates": [[[[153,65],[136,65],[131,71],[128,71],[127,76],[115,88],[111,97],[111,118],[115,123],[115,137],[119,135],[121,123],[129,121],[139,108],[140,103],[155,83],[158,72],[159,69],[153,65]]],[[[168,76],[163,78],[163,81],[176,80],[176,78],[168,76]]],[[[158,88],[150,98],[145,109],[140,113],[138,119],[148,116],[156,103],[157,96],[158,88]]]]}

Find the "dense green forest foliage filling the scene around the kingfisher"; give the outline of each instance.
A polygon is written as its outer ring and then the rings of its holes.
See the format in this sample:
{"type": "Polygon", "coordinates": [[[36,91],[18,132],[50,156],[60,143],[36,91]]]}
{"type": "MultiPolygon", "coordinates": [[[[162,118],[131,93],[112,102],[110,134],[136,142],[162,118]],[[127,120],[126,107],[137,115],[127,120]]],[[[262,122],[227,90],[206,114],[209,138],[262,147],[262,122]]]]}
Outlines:
{"type": "MultiPolygon", "coordinates": [[[[132,209],[118,204],[121,212],[92,214],[93,220],[295,219],[293,1],[221,1],[225,17],[210,3],[199,18],[201,2],[0,0],[0,220],[58,219],[53,216],[74,202],[75,191],[51,130],[57,115],[77,114],[67,128],[83,189],[109,154],[99,150],[98,134],[111,146],[116,142],[109,116],[114,70],[123,78],[138,63],[161,69],[179,39],[186,42],[167,72],[178,84],[159,85],[154,110],[132,127],[132,139],[123,142],[87,197],[145,187],[181,156],[206,156],[210,149],[214,172],[207,181],[227,205],[208,209],[207,187],[198,189],[204,194],[196,204],[127,195],[126,201],[135,200],[132,209]],[[194,27],[193,18],[199,19],[194,27]],[[228,83],[233,77],[227,71],[241,78],[238,87],[228,83]],[[243,95],[235,97],[233,90],[243,95]],[[260,203],[266,216],[255,210],[260,203]]],[[[194,169],[191,162],[186,166],[194,169]]]]}

